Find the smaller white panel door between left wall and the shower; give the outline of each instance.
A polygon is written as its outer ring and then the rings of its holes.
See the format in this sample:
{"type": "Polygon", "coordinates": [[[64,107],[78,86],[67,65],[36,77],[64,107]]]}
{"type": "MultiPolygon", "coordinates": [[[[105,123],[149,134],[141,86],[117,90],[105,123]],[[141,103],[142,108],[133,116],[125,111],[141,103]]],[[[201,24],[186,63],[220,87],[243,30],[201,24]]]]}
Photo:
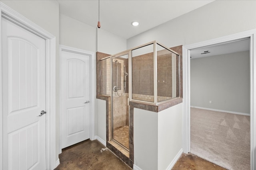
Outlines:
{"type": "Polygon", "coordinates": [[[90,138],[90,56],[70,51],[62,51],[61,56],[62,148],[65,148],[90,138]]]}

